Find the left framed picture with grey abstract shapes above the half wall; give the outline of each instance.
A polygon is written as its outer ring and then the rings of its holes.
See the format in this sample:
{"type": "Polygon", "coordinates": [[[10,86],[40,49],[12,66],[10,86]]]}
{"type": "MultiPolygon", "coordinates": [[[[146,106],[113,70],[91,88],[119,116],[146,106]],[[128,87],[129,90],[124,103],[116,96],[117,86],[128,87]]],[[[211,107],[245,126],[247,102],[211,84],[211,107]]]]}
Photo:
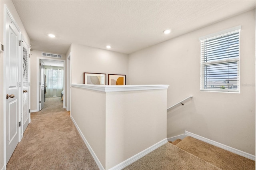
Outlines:
{"type": "Polygon", "coordinates": [[[84,84],[86,84],[86,85],[106,85],[106,74],[84,73],[84,84]]]}

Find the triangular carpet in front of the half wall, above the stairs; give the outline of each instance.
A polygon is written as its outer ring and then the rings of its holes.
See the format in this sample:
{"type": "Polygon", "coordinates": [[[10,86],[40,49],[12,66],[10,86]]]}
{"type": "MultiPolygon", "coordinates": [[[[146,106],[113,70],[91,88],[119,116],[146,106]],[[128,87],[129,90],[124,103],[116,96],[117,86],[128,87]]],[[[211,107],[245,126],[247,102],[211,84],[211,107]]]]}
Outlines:
{"type": "Polygon", "coordinates": [[[167,142],[124,170],[220,170],[167,142]]]}

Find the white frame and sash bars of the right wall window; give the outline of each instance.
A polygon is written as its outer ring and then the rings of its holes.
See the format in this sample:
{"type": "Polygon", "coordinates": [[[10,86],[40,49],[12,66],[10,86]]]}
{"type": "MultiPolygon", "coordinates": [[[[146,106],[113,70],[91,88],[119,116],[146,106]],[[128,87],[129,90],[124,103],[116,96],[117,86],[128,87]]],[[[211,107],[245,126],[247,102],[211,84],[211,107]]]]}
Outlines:
{"type": "MultiPolygon", "coordinates": [[[[209,91],[209,92],[224,92],[224,93],[240,93],[240,30],[241,30],[241,26],[236,26],[227,30],[223,30],[221,32],[216,32],[214,34],[210,34],[208,36],[204,36],[202,38],[199,38],[200,41],[200,91],[209,91]],[[228,34],[233,34],[235,32],[238,32],[238,58],[232,58],[232,59],[220,59],[217,61],[205,61],[205,45],[202,45],[203,42],[205,42],[206,40],[212,40],[214,38],[219,38],[221,36],[226,36],[228,34]],[[206,83],[206,78],[205,78],[205,66],[207,65],[218,65],[218,64],[228,64],[228,63],[234,63],[237,62],[237,89],[208,89],[205,87],[205,83],[206,83]]],[[[226,83],[226,80],[225,80],[226,83]]],[[[209,86],[211,86],[210,88],[212,88],[212,85],[214,86],[214,84],[209,84],[209,86]]],[[[234,87],[234,86],[233,86],[234,87]]]]}

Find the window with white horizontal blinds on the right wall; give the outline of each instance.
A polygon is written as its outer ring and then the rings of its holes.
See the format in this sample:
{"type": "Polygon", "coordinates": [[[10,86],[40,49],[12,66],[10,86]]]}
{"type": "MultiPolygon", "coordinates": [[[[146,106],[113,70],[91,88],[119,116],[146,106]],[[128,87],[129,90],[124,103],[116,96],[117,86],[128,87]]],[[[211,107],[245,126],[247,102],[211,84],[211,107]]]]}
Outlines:
{"type": "Polygon", "coordinates": [[[200,38],[201,91],[240,93],[241,26],[200,38]]]}

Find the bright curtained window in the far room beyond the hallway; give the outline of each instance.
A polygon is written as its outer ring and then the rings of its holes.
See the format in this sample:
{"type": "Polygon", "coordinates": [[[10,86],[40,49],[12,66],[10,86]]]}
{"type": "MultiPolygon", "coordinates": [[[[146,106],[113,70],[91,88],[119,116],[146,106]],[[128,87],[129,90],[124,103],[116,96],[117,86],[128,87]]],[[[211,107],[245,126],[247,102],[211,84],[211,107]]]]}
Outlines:
{"type": "Polygon", "coordinates": [[[48,89],[63,89],[62,69],[45,69],[46,71],[46,86],[48,89]]]}

